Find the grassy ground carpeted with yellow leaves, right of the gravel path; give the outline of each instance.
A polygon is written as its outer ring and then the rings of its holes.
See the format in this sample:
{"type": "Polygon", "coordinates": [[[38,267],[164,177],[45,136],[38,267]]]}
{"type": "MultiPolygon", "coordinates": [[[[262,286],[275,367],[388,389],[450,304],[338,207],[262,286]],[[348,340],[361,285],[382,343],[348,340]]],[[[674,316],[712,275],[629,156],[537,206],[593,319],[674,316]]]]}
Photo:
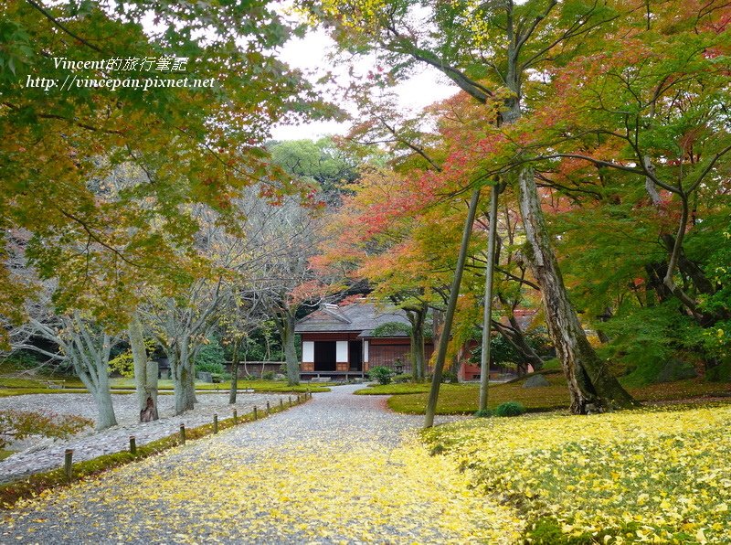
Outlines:
{"type": "Polygon", "coordinates": [[[426,437],[473,482],[567,537],[728,543],[730,428],[726,405],[480,419],[426,437]]]}

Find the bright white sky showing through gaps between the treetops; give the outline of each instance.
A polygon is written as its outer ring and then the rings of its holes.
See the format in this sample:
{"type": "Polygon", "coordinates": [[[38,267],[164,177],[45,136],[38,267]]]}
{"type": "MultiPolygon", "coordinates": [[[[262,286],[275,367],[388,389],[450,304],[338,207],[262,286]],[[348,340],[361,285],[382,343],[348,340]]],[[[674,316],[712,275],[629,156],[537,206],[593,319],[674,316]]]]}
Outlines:
{"type": "MultiPolygon", "coordinates": [[[[338,83],[346,86],[349,79],[348,67],[333,66],[333,61],[327,58],[333,49],[333,40],[323,30],[311,30],[305,37],[294,37],[287,42],[281,49],[281,59],[292,68],[302,69],[307,74],[312,73],[312,80],[323,76],[327,71],[332,71],[338,83]]],[[[368,69],[373,69],[374,65],[375,59],[370,63],[364,59],[364,65],[358,69],[365,73],[368,69]]],[[[459,89],[448,81],[437,69],[424,65],[417,75],[395,89],[399,105],[405,110],[418,111],[433,102],[449,98],[459,89]]],[[[339,105],[355,114],[353,104],[339,102],[339,105]]],[[[317,139],[326,134],[345,134],[349,127],[349,123],[314,122],[277,125],[271,133],[276,140],[317,139]]]]}

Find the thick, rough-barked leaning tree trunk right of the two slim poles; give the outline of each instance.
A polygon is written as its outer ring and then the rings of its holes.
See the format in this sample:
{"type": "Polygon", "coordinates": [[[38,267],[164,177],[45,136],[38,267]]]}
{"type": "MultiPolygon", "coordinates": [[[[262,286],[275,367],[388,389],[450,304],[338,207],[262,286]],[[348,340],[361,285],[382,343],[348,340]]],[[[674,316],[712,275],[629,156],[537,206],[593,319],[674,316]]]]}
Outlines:
{"type": "Polygon", "coordinates": [[[521,215],[530,245],[528,262],[538,285],[546,313],[546,325],[556,345],[571,395],[571,411],[586,414],[612,407],[629,407],[633,400],[589,345],[576,311],[568,301],[543,219],[533,168],[523,167],[518,176],[521,215]]]}

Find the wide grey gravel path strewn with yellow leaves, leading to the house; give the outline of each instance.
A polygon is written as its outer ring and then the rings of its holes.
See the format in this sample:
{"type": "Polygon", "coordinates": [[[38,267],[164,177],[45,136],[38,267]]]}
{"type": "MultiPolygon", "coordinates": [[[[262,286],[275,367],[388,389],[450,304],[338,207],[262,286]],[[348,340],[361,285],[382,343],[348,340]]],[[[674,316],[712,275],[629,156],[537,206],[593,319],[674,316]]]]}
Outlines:
{"type": "MultiPolygon", "coordinates": [[[[510,543],[514,511],[418,442],[422,417],[336,387],[313,401],[45,493],[13,543],[510,543]]],[[[440,419],[454,420],[453,418],[440,419]]]]}

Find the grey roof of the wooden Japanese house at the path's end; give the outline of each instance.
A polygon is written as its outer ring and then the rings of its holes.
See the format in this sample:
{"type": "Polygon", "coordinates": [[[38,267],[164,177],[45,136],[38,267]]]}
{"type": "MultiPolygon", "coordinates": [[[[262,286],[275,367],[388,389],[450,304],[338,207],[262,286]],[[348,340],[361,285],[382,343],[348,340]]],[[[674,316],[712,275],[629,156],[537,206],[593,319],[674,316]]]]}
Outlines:
{"type": "MultiPolygon", "coordinates": [[[[329,333],[331,331],[370,331],[388,322],[409,325],[406,313],[396,307],[373,303],[323,305],[294,326],[295,333],[329,333]]],[[[402,337],[397,333],[389,337],[402,337]]]]}

